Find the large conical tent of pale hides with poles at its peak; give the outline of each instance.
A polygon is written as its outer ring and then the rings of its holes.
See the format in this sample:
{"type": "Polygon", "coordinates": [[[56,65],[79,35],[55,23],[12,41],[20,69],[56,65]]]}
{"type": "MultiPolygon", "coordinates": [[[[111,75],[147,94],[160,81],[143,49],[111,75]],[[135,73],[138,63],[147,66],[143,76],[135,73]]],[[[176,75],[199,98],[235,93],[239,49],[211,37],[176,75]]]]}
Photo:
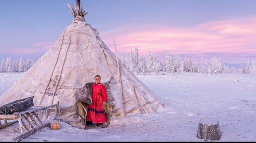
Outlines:
{"type": "Polygon", "coordinates": [[[163,107],[121,61],[118,66],[116,55],[101,40],[98,31],[86,23],[86,13],[73,14],[75,19],[55,44],[0,96],[0,105],[30,96],[35,96],[34,105],[60,102],[61,114],[57,119],[83,129],[85,123],[78,113],[77,98],[84,85],[100,75],[101,81],[108,83],[112,118],[156,112],[163,107]]]}

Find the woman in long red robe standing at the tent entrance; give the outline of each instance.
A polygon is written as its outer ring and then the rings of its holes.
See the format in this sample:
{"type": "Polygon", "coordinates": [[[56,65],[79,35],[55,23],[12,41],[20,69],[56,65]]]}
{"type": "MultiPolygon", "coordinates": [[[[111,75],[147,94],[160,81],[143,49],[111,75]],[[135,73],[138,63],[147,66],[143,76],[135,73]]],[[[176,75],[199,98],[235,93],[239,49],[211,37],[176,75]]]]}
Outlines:
{"type": "Polygon", "coordinates": [[[106,128],[107,117],[102,107],[103,103],[108,100],[106,87],[100,83],[100,75],[94,77],[95,83],[92,84],[92,104],[88,105],[86,120],[91,121],[95,127],[97,124],[103,123],[102,128],[106,128]]]}

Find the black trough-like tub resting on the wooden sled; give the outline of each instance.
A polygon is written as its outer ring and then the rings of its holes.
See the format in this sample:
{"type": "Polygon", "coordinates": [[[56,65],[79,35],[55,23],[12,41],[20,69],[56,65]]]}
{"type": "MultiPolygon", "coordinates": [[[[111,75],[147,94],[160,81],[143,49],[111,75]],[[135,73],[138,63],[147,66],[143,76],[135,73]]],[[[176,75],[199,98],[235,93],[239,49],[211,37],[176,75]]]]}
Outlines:
{"type": "Polygon", "coordinates": [[[34,96],[31,96],[28,98],[15,100],[11,103],[0,106],[0,114],[12,114],[15,112],[25,111],[29,107],[32,107],[34,105],[33,98],[34,96]]]}

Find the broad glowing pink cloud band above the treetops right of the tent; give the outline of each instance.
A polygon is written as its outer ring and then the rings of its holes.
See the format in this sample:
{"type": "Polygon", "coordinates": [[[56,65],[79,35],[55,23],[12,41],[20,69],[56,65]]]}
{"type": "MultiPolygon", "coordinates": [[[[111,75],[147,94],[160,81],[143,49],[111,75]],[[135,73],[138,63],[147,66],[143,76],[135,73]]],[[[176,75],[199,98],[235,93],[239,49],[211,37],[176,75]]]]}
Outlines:
{"type": "MultiPolygon", "coordinates": [[[[191,51],[201,57],[203,53],[224,53],[245,58],[252,53],[256,57],[256,17],[203,23],[191,28],[150,24],[132,24],[102,32],[102,39],[113,51],[114,37],[118,52],[138,48],[139,53],[164,52],[188,54],[191,51]]],[[[207,58],[211,58],[207,55],[207,58]]],[[[235,58],[235,57],[234,57],[235,58]]]]}

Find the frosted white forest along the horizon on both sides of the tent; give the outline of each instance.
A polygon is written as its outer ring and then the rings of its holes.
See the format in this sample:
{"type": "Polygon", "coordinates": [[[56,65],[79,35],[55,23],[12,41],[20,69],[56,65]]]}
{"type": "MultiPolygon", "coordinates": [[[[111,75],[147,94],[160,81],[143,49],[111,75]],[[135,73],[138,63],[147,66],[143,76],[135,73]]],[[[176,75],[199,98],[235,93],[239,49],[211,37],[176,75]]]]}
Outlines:
{"type": "MultiPolygon", "coordinates": [[[[214,57],[212,59],[203,60],[195,63],[191,55],[182,60],[181,56],[176,53],[172,54],[169,50],[165,51],[163,61],[158,60],[154,53],[148,50],[147,56],[140,56],[138,49],[134,51],[130,49],[130,53],[119,54],[119,59],[123,64],[135,75],[151,75],[151,74],[182,74],[184,72],[196,73],[246,73],[256,75],[256,61],[248,60],[247,64],[241,64],[240,68],[224,65],[221,61],[214,57]]],[[[11,57],[2,59],[0,63],[0,72],[26,72],[35,61],[23,56],[12,61],[11,57]]]]}

